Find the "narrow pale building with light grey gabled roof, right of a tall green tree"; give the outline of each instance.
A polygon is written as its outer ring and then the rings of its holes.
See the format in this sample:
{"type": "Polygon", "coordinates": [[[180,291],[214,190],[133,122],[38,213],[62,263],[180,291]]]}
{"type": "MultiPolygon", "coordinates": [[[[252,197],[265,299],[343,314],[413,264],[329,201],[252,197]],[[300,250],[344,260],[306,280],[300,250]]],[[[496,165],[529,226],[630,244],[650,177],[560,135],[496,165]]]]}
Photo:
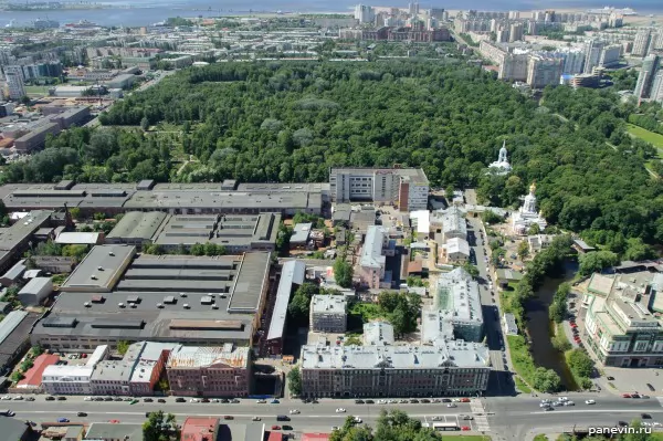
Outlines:
{"type": "Polygon", "coordinates": [[[389,240],[389,230],[370,225],[359,260],[361,283],[370,288],[391,287],[391,272],[386,271],[386,264],[387,255],[393,255],[394,251],[394,243],[389,240]]]}

